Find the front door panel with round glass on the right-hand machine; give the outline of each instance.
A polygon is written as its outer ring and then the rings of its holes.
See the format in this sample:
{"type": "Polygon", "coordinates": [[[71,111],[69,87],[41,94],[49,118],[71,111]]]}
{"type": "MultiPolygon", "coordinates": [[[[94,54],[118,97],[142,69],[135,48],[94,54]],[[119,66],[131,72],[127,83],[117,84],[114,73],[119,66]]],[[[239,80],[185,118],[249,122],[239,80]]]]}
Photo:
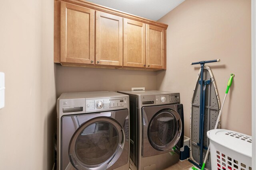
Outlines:
{"type": "Polygon", "coordinates": [[[142,108],[142,156],[169,152],[182,135],[182,120],[176,105],[142,108]]]}

